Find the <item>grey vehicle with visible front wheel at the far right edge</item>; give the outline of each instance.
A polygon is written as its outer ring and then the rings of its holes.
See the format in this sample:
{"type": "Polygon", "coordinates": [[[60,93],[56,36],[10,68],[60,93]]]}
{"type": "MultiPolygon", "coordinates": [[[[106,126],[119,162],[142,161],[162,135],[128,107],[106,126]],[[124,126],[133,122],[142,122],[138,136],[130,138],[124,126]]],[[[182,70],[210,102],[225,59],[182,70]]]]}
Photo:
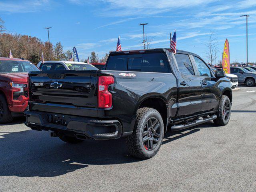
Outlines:
{"type": "Polygon", "coordinates": [[[238,83],[254,86],[256,81],[256,73],[250,72],[242,67],[230,67],[231,74],[238,76],[238,83]]]}

